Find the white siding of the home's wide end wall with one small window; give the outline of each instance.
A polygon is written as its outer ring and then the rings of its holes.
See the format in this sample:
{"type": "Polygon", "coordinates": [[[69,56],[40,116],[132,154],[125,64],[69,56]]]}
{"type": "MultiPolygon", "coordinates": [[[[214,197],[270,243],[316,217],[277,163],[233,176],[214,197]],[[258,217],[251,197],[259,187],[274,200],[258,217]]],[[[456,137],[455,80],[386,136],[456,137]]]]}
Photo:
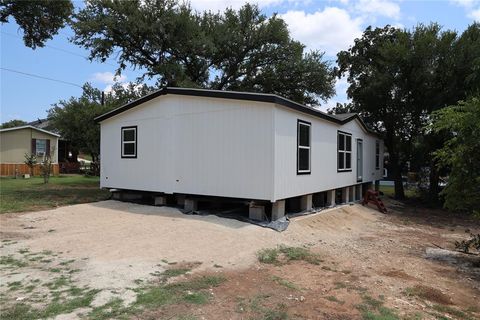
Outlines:
{"type": "Polygon", "coordinates": [[[272,104],[167,95],[101,124],[101,186],[270,200],[272,104]],[[137,158],[120,157],[137,126],[137,158]]]}

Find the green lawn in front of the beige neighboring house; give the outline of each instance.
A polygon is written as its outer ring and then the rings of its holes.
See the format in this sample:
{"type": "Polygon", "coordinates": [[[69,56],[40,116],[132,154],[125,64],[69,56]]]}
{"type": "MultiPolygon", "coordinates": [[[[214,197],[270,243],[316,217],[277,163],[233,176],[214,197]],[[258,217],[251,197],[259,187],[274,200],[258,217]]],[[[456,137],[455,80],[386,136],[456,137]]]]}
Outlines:
{"type": "Polygon", "coordinates": [[[41,177],[0,178],[0,213],[33,211],[105,200],[110,192],[99,188],[98,177],[61,175],[48,184],[41,177]]]}

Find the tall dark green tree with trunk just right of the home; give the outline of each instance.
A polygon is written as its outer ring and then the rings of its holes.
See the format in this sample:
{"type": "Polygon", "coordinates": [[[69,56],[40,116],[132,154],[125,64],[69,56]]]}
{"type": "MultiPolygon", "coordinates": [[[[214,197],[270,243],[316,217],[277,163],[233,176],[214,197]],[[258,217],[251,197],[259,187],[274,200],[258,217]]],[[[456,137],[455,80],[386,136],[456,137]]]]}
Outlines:
{"type": "Polygon", "coordinates": [[[429,114],[479,90],[480,81],[472,80],[479,79],[479,34],[478,23],[460,37],[437,24],[369,27],[338,54],[337,75],[347,75],[352,99],[348,110],[383,133],[397,198],[404,197],[402,171],[414,154],[426,155],[420,166],[435,168],[430,153],[442,139],[425,130],[429,114]]]}

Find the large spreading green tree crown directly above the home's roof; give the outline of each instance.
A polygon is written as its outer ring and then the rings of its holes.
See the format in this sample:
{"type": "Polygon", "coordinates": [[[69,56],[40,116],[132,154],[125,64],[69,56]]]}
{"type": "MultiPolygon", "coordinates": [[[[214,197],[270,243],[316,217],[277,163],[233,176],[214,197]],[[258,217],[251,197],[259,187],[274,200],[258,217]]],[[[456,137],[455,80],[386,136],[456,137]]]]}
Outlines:
{"type": "Polygon", "coordinates": [[[74,18],[73,42],[91,59],[117,55],[158,85],[281,94],[313,104],[334,93],[330,65],[305,52],[277,15],[256,5],[199,13],[174,0],[92,0],[74,18]]]}

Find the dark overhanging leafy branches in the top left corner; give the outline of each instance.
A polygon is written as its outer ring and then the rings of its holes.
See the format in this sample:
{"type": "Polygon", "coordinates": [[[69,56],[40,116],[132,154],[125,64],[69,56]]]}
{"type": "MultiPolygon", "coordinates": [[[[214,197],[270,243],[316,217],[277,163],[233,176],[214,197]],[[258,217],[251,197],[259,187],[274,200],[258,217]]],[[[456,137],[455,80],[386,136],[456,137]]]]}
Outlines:
{"type": "Polygon", "coordinates": [[[0,22],[7,23],[9,17],[13,17],[23,30],[25,45],[32,49],[43,47],[65,26],[72,13],[73,4],[70,0],[0,2],[0,22]]]}

